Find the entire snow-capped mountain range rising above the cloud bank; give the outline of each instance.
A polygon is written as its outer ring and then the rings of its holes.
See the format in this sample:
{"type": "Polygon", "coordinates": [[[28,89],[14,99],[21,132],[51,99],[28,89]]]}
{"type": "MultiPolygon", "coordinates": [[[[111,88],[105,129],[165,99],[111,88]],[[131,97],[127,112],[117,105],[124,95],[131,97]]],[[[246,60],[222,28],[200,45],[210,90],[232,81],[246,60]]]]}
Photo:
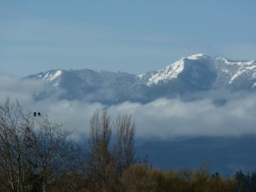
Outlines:
{"type": "Polygon", "coordinates": [[[45,86],[34,95],[35,99],[58,94],[60,99],[88,102],[151,102],[159,97],[189,99],[198,91],[254,91],[256,60],[232,61],[196,54],[142,75],[84,69],[52,70],[26,78],[45,82],[45,86]]]}

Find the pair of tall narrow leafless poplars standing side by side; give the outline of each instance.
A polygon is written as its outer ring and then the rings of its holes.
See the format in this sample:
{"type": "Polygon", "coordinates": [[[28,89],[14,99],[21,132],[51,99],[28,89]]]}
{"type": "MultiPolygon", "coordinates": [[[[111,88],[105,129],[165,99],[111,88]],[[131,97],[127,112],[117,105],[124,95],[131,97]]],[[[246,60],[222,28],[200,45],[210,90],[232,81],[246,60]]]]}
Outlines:
{"type": "Polygon", "coordinates": [[[88,173],[97,191],[122,191],[122,172],[134,163],[135,126],[131,115],[118,115],[114,123],[116,140],[107,110],[97,110],[90,121],[88,173]]]}

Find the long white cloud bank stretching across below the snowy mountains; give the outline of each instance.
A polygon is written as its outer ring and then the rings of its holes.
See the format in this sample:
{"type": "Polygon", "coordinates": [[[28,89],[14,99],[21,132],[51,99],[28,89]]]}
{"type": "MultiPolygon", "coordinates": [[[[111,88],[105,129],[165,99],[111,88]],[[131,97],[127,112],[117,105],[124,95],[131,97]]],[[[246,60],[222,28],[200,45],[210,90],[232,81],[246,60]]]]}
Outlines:
{"type": "Polygon", "coordinates": [[[89,134],[90,119],[96,109],[108,108],[112,120],[120,113],[130,113],[136,124],[136,136],[168,139],[178,136],[240,136],[256,133],[256,95],[235,96],[222,105],[212,98],[183,102],[180,99],[158,99],[147,104],[123,102],[105,106],[101,103],[66,101],[49,98],[33,100],[41,83],[0,76],[0,102],[6,96],[17,99],[26,110],[41,111],[50,119],[67,122],[75,137],[89,134]]]}

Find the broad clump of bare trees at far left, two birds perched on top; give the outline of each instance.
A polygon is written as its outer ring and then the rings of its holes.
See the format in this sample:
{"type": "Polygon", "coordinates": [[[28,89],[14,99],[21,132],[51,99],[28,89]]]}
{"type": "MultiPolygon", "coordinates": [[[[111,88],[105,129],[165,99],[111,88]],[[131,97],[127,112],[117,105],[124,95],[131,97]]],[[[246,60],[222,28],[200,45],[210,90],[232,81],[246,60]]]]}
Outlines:
{"type": "Polygon", "coordinates": [[[62,179],[65,190],[80,149],[62,126],[47,116],[24,113],[19,102],[7,97],[0,104],[0,182],[10,191],[47,192],[62,179]]]}

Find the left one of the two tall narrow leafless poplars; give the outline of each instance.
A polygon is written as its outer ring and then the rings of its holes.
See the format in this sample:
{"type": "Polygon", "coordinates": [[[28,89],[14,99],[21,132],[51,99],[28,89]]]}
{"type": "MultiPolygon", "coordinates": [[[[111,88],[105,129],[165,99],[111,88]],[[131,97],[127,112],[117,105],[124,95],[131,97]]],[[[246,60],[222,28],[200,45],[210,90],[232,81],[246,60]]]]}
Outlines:
{"type": "Polygon", "coordinates": [[[109,166],[111,165],[109,146],[112,133],[109,122],[107,110],[103,110],[102,114],[97,110],[90,121],[88,174],[100,191],[104,190],[109,182],[109,166]]]}

